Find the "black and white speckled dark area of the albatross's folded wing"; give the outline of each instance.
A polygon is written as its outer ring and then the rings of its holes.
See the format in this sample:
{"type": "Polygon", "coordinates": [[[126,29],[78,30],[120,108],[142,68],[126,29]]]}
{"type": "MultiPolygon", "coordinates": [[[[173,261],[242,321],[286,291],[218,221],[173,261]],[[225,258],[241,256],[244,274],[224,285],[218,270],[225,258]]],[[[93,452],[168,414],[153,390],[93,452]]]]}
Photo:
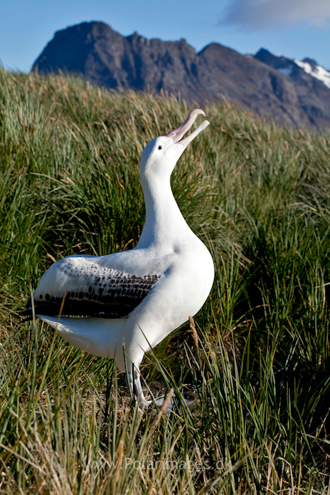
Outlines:
{"type": "MultiPolygon", "coordinates": [[[[66,291],[38,291],[33,301],[36,314],[56,316],[63,304],[63,316],[126,318],[160,278],[154,274],[135,276],[97,264],[78,268],[68,262],[60,270],[68,276],[66,291]]],[[[21,316],[27,316],[26,321],[32,319],[31,298],[21,316]]]]}

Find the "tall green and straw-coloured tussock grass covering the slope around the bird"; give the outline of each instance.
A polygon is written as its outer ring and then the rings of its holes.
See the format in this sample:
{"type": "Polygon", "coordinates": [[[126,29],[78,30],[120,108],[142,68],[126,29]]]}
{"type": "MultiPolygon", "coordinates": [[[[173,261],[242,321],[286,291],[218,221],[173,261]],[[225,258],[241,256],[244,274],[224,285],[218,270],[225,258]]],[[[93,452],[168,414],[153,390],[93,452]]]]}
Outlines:
{"type": "Polygon", "coordinates": [[[215,283],[142,367],[174,414],[140,415],[111,361],[17,318],[54,259],[137,243],[139,155],[189,110],[0,71],[1,494],[329,493],[329,132],[206,108],[172,187],[215,283]]]}

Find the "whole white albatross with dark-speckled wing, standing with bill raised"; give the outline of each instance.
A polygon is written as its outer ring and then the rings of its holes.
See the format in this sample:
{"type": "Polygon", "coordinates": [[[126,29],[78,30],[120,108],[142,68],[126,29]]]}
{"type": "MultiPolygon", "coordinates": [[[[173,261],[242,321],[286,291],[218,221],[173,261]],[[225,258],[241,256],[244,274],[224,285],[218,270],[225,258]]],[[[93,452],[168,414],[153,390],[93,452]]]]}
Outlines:
{"type": "Polygon", "coordinates": [[[170,184],[179,157],[209,124],[204,120],[181,139],[198,114],[205,116],[203,110],[193,110],[180,127],[156,137],[142,152],[139,173],[146,220],[137,246],[106,256],[74,254],[56,261],[41,277],[33,304],[30,298],[21,313],[29,320],[34,311],[87,353],[115,358],[142,409],[151,404],[140,381],[144,353],[196,315],[213,284],[211,254],[183,219],[170,184]]]}

